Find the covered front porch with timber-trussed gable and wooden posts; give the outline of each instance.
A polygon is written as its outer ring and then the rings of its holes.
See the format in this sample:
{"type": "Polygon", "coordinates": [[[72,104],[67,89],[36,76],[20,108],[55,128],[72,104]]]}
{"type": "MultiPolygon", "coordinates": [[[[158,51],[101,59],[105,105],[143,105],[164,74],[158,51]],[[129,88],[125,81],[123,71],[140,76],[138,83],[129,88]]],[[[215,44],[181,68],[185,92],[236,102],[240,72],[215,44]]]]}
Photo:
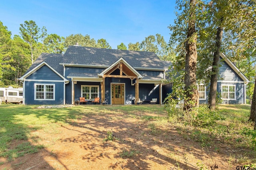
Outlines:
{"type": "Polygon", "coordinates": [[[138,98],[143,101],[157,98],[157,104],[162,104],[161,77],[142,76],[122,58],[99,74],[80,75],[68,77],[72,83],[72,104],[80,97],[86,100],[99,97],[112,105],[132,104],[138,98]]]}

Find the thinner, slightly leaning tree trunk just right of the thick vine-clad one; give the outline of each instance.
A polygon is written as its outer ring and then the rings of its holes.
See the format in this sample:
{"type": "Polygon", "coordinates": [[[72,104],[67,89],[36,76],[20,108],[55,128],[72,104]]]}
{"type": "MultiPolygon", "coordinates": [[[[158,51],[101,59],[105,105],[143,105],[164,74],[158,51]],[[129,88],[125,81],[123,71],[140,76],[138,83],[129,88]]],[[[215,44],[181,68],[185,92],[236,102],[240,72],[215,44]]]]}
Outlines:
{"type": "MultiPolygon", "coordinates": [[[[223,18],[221,19],[223,20],[223,18]]],[[[213,55],[213,63],[212,63],[212,75],[211,75],[211,84],[210,84],[210,92],[209,92],[209,108],[212,110],[216,109],[216,97],[217,97],[217,81],[219,74],[219,63],[220,63],[220,47],[221,40],[223,34],[223,27],[218,27],[216,34],[216,51],[214,51],[213,55]]]]}

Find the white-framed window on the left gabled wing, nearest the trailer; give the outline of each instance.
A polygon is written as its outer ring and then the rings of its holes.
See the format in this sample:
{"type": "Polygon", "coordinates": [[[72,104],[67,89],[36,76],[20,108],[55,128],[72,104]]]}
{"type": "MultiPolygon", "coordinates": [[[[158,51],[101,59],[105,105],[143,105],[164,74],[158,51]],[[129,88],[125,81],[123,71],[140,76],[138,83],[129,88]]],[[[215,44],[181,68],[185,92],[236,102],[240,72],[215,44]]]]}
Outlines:
{"type": "Polygon", "coordinates": [[[55,84],[35,84],[35,100],[55,100],[55,84]]]}

